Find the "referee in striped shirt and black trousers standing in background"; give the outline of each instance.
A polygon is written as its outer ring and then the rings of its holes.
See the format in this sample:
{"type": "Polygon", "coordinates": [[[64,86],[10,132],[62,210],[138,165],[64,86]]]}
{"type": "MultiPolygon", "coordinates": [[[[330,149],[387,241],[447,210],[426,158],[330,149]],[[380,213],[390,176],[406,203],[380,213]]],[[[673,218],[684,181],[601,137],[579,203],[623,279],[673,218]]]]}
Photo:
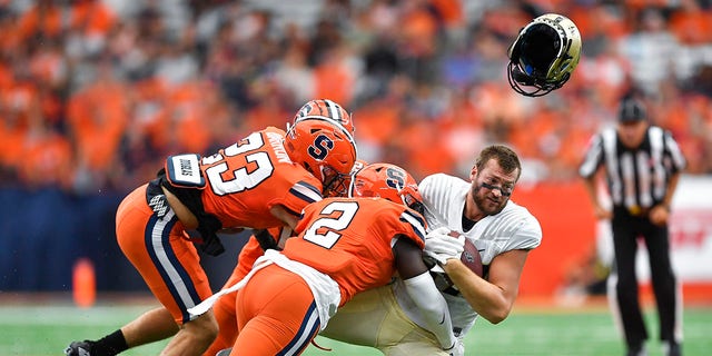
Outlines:
{"type": "Polygon", "coordinates": [[[615,260],[609,277],[609,300],[624,333],[627,355],[645,355],[647,339],[635,275],[639,238],[650,256],[665,355],[681,355],[682,295],[670,261],[668,218],[685,165],[672,135],[647,121],[641,101],[626,97],[621,101],[616,126],[593,137],[578,170],[596,217],[612,219],[615,260]],[[612,210],[599,200],[599,170],[605,171],[612,210]]]}

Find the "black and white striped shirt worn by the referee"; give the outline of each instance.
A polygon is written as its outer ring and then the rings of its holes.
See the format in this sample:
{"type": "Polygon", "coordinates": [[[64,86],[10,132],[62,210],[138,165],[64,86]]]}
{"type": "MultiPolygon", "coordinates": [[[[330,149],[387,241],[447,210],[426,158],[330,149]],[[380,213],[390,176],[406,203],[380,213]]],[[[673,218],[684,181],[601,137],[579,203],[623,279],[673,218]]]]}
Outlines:
{"type": "Polygon", "coordinates": [[[685,165],[670,131],[650,126],[641,146],[629,149],[611,127],[593,138],[578,174],[590,178],[605,166],[613,206],[650,208],[663,200],[670,177],[685,165]]]}

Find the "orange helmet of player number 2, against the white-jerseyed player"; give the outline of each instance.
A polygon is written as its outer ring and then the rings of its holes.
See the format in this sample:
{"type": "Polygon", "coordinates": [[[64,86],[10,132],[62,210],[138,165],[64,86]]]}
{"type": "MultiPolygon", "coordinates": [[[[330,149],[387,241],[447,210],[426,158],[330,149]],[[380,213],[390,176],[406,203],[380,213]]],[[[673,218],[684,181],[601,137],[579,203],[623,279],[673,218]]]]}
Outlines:
{"type": "Polygon", "coordinates": [[[354,175],[349,197],[380,197],[425,212],[418,184],[405,169],[390,164],[370,164],[354,175]]]}

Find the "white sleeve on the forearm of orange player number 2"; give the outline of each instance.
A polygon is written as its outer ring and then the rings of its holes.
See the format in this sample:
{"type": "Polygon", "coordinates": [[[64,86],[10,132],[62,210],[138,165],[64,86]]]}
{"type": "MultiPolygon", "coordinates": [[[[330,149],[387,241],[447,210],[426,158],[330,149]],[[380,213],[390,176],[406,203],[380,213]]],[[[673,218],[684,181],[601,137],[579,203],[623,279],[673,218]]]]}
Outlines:
{"type": "Polygon", "coordinates": [[[428,332],[435,334],[443,349],[455,344],[453,322],[449,318],[447,303],[435,287],[431,275],[426,271],[413,278],[403,280],[411,299],[422,310],[423,322],[428,332]]]}

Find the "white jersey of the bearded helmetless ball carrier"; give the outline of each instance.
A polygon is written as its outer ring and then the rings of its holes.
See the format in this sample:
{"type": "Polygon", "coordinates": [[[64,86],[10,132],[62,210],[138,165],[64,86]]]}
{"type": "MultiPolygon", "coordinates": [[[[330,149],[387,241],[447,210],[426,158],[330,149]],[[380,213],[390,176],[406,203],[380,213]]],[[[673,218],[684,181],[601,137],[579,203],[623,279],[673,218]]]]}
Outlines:
{"type": "MultiPolygon", "coordinates": [[[[542,243],[538,220],[526,208],[513,201],[508,201],[500,214],[481,219],[465,231],[462,217],[471,186],[468,181],[444,174],[432,175],[421,181],[418,190],[425,202],[428,230],[445,226],[461,233],[475,244],[485,268],[500,254],[513,249],[533,249],[542,243]]],[[[423,318],[403,286],[396,284],[395,293],[406,315],[423,326],[423,318]]],[[[477,313],[462,296],[443,296],[447,300],[455,335],[465,335],[475,324],[477,313]]]]}

